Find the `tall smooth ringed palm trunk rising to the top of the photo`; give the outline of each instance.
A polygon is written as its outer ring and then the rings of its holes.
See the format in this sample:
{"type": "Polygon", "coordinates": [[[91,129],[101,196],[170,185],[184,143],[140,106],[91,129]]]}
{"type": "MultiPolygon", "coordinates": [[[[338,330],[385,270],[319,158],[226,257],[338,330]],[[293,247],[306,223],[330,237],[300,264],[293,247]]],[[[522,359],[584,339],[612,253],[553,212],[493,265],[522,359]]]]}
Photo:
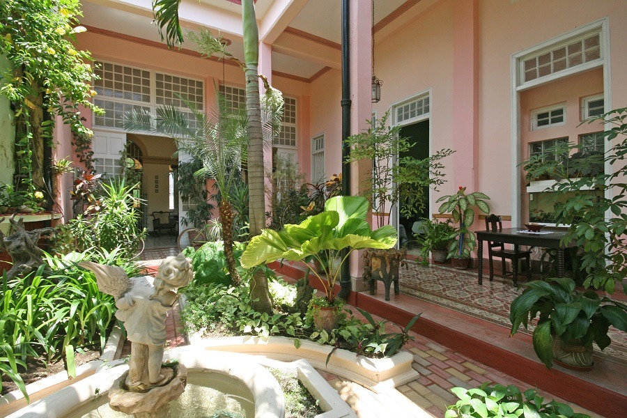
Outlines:
{"type": "MultiPolygon", "coordinates": [[[[244,58],[246,62],[246,111],[248,114],[248,187],[251,236],[259,235],[265,225],[265,195],[263,178],[263,135],[261,133],[261,103],[259,102],[259,32],[254,0],[242,0],[244,58]]],[[[250,284],[252,307],[259,312],[272,312],[268,279],[257,270],[250,284]]]]}

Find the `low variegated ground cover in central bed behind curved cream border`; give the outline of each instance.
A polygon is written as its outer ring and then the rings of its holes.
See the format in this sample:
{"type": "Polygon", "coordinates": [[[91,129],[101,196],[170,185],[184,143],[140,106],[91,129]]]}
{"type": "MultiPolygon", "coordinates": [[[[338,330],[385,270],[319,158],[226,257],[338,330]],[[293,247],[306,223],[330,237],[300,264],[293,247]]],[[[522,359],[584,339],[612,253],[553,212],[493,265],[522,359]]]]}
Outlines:
{"type": "MultiPolygon", "coordinates": [[[[296,292],[294,286],[276,279],[270,284],[272,299],[279,306],[281,302],[293,304],[296,292]]],[[[309,339],[321,344],[345,348],[358,355],[366,357],[390,357],[402,348],[412,337],[408,335],[419,315],[410,320],[401,332],[385,333],[385,321],[376,323],[365,311],[361,311],[369,323],[362,323],[344,310],[339,316],[339,323],[332,332],[314,330],[311,315],[312,309],[305,315],[286,314],[274,310],[272,314],[261,313],[251,308],[251,300],[247,286],[227,287],[220,284],[206,284],[185,288],[187,303],[182,312],[185,326],[190,331],[203,330],[212,333],[240,335],[251,334],[267,338],[271,335],[290,336],[295,338],[295,345],[300,345],[299,339],[309,339]],[[348,314],[348,315],[347,315],[348,314]]],[[[343,302],[336,298],[328,302],[326,298],[318,298],[322,306],[333,306],[341,309],[343,302]]],[[[311,307],[311,304],[310,304],[311,307]]]]}

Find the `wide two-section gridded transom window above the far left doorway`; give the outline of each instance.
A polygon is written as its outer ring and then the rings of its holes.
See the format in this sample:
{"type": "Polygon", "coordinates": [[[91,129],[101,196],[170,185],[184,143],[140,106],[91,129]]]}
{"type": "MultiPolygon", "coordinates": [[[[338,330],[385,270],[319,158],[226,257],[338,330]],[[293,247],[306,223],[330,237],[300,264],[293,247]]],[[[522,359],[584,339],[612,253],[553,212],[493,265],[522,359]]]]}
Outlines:
{"type": "Polygon", "coordinates": [[[124,114],[132,110],[154,113],[155,107],[168,104],[185,112],[190,125],[196,121],[181,95],[203,111],[203,82],[186,77],[134,68],[116,63],[96,62],[95,75],[100,79],[93,82],[98,93],[94,104],[104,109],[104,114],[94,115],[94,125],[122,128],[124,114]],[[154,86],[154,93],[153,93],[154,86]]]}

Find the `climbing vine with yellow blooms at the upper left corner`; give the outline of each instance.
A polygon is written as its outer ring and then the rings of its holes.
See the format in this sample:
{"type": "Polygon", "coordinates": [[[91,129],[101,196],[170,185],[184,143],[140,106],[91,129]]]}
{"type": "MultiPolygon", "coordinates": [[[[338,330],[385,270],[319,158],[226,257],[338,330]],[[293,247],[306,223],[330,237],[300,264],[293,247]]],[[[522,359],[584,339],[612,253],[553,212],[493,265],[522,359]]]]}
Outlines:
{"type": "Polygon", "coordinates": [[[54,116],[73,134],[92,135],[79,112],[79,106],[99,110],[91,102],[91,56],[75,48],[75,33],[85,30],[76,26],[81,16],[76,0],[5,0],[0,8],[0,50],[10,62],[0,94],[15,107],[17,187],[29,192],[44,187],[33,185],[33,171],[42,176],[40,155],[33,153],[42,141],[52,143],[54,116]]]}

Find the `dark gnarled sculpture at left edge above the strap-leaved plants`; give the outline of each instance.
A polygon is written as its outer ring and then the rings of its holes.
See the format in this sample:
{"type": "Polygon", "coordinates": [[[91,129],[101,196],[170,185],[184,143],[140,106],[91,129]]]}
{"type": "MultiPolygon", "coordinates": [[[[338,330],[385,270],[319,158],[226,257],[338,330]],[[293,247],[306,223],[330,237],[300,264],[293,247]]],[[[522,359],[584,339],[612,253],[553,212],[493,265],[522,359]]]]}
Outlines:
{"type": "Polygon", "coordinates": [[[0,231],[0,247],[13,258],[13,267],[6,273],[7,279],[20,274],[29,274],[44,264],[43,252],[37,244],[42,234],[54,233],[54,228],[41,228],[34,231],[24,229],[24,218],[15,221],[15,214],[9,218],[11,229],[5,236],[0,231]]]}

